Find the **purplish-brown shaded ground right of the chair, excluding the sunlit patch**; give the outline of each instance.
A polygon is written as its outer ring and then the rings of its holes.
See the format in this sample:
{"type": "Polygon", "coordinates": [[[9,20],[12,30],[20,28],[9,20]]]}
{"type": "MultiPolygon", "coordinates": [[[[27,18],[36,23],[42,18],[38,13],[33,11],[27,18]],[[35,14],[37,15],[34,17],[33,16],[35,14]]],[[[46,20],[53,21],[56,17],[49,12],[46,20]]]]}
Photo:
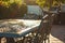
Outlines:
{"type": "Polygon", "coordinates": [[[65,43],[65,25],[53,25],[51,35],[65,43]]]}

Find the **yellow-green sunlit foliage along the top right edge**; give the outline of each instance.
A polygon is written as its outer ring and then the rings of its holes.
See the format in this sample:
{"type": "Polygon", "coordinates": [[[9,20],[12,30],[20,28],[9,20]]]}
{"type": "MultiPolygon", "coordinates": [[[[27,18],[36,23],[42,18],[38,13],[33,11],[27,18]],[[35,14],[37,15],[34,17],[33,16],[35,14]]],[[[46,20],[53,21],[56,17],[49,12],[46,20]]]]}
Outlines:
{"type": "MultiPolygon", "coordinates": [[[[50,6],[50,1],[51,0],[37,0],[36,2],[41,6],[41,8],[43,8],[43,6],[50,6]]],[[[65,0],[52,0],[52,3],[51,3],[51,5],[53,6],[54,4],[57,4],[57,5],[60,5],[61,3],[65,3],[65,0]]]]}

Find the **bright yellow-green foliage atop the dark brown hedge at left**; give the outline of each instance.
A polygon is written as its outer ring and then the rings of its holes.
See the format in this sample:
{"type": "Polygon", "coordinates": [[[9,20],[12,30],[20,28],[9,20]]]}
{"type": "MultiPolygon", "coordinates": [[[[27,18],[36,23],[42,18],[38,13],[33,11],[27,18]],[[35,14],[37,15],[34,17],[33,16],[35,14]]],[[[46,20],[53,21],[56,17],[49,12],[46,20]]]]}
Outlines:
{"type": "Polygon", "coordinates": [[[18,6],[22,5],[22,0],[2,0],[1,5],[9,8],[12,3],[17,3],[18,6]]]}

